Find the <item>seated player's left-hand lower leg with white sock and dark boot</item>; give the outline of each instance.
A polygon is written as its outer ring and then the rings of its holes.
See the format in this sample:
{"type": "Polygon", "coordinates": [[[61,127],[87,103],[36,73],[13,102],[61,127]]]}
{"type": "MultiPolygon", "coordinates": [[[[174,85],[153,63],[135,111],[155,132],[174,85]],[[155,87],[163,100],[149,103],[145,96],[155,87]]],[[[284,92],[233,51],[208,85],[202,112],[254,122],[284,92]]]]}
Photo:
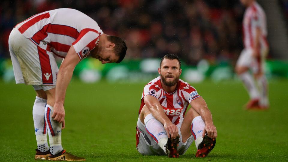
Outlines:
{"type": "Polygon", "coordinates": [[[168,138],[164,126],[152,116],[146,105],[143,106],[139,118],[140,121],[144,123],[147,132],[158,143],[161,149],[163,149],[170,158],[178,158],[179,153],[177,146],[179,143],[179,135],[175,139],[168,138]]]}

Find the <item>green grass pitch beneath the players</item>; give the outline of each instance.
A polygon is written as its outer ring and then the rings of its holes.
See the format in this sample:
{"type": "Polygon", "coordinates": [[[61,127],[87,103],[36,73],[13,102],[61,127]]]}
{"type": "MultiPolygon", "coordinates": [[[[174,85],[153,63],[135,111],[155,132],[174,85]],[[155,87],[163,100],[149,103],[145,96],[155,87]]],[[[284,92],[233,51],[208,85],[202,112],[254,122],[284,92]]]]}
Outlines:
{"type": "MultiPolygon", "coordinates": [[[[288,161],[288,80],[270,81],[267,111],[243,110],[248,95],[241,82],[192,84],[206,100],[218,132],[215,148],[200,159],[194,143],[178,159],[137,152],[135,127],[144,85],[71,82],[64,149],[87,161],[288,161]]],[[[0,161],[34,161],[34,90],[3,82],[0,89],[0,161]]]]}

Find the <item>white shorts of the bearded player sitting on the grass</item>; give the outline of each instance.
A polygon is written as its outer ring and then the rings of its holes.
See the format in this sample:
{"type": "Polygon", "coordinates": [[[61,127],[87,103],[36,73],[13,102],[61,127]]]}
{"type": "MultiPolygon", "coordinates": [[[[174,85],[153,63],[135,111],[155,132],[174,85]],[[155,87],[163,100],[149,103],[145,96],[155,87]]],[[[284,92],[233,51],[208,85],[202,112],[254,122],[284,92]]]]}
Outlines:
{"type": "MultiPolygon", "coordinates": [[[[186,143],[182,142],[182,135],[181,135],[181,123],[177,124],[180,136],[179,146],[177,147],[179,155],[183,155],[192,142],[194,141],[194,137],[191,135],[186,143]]],[[[161,149],[161,147],[156,143],[156,141],[147,133],[145,125],[140,121],[138,117],[137,127],[136,127],[136,140],[137,146],[136,149],[142,155],[166,155],[165,152],[161,149]]]]}

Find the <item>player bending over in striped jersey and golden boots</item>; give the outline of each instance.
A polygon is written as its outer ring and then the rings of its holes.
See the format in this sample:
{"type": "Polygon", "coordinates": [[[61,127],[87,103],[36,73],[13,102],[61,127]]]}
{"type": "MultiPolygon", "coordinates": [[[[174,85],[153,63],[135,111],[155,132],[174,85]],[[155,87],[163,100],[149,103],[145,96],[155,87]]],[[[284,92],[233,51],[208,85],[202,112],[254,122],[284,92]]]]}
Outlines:
{"type": "Polygon", "coordinates": [[[17,24],[9,36],[9,50],[16,83],[32,85],[36,91],[35,159],[84,161],[63,150],[61,144],[67,86],[76,64],[89,54],[102,64],[121,62],[127,50],[125,42],[104,34],[97,22],[84,13],[60,8],[17,24]],[[59,72],[54,55],[65,58],[59,72]]]}

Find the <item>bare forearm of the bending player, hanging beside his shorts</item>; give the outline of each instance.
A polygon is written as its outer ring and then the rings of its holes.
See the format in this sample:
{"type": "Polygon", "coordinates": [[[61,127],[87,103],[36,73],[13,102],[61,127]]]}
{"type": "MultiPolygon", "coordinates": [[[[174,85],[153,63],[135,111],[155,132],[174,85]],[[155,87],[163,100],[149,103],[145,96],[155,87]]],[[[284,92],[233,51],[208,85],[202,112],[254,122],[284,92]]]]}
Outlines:
{"type": "Polygon", "coordinates": [[[56,91],[55,91],[55,104],[64,104],[66,89],[73,75],[71,67],[61,67],[58,72],[56,91]]]}

